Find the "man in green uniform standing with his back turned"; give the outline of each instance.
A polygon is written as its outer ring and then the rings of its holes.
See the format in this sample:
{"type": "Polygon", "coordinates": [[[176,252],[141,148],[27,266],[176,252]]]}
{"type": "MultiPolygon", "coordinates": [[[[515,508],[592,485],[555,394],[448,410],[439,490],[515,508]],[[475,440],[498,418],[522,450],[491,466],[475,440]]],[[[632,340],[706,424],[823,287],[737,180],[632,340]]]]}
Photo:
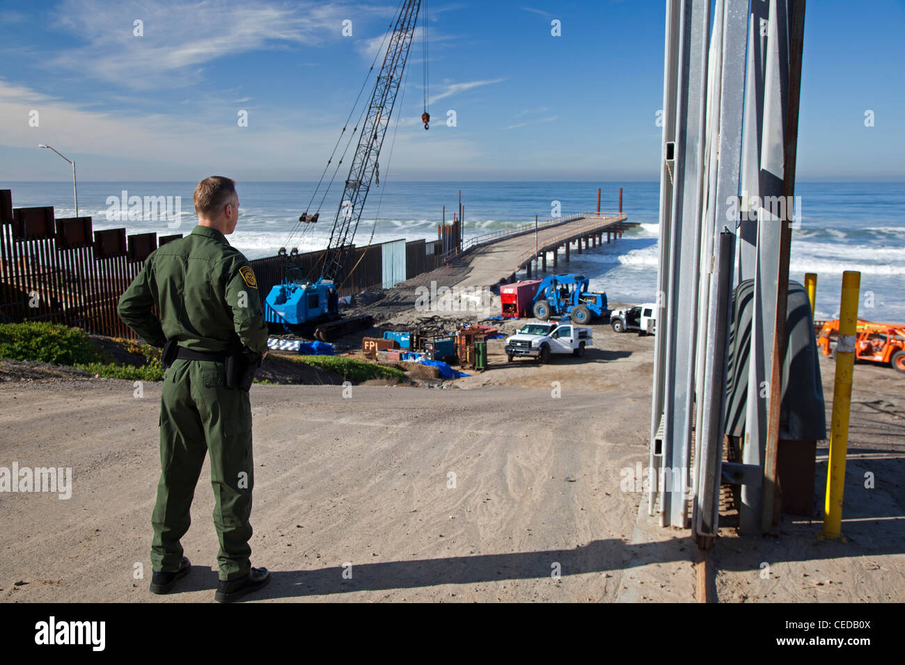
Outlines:
{"type": "Polygon", "coordinates": [[[225,237],[238,220],[235,182],[207,177],[195,188],[194,202],[198,225],[151,252],[119,299],[119,317],[148,344],[164,348],[167,366],[150,590],[167,594],[191,568],[179,541],[210,451],[220,540],[214,598],[232,602],[270,581],[266,568],[252,568],[248,545],[254,486],[248,388],[255,361],[260,365],[267,353],[267,324],[254,272],[225,237]]]}

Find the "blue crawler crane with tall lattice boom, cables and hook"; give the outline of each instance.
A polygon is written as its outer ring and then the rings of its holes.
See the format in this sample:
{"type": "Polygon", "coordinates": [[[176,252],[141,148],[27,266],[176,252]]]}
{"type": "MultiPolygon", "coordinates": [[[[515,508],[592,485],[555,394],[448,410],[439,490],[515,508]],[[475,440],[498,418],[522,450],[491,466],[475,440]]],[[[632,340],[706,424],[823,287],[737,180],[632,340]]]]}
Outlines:
{"type": "MultiPolygon", "coordinates": [[[[321,260],[315,266],[315,270],[318,269],[318,266],[320,267],[319,279],[312,283],[300,277],[298,268],[287,266],[286,277],[283,282],[274,286],[265,299],[264,318],[274,327],[283,328],[290,332],[300,332],[313,328],[314,337],[326,341],[329,337],[368,328],[373,323],[373,319],[367,316],[338,320],[338,286],[336,280],[343,275],[345,261],[348,258],[350,246],[355,238],[358,223],[361,221],[361,214],[364,212],[367,194],[372,184],[379,184],[378,158],[380,157],[381,147],[384,144],[384,138],[386,138],[386,129],[389,127],[390,119],[393,115],[396,96],[403,81],[405,64],[408,62],[408,55],[414,39],[414,28],[422,2],[423,0],[403,0],[398,14],[395,16],[395,21],[391,24],[391,31],[388,35],[385,35],[384,41],[386,42],[386,37],[388,36],[389,43],[386,46],[386,52],[383,52],[384,59],[377,74],[374,90],[367,106],[362,111],[364,121],[361,124],[357,146],[353,153],[351,166],[348,169],[343,195],[339,200],[333,227],[330,230],[329,242],[321,260]],[[317,327],[314,328],[314,326],[317,327]]],[[[426,5],[426,0],[424,2],[426,5]]],[[[424,128],[427,129],[430,114],[427,112],[426,21],[424,21],[423,25],[423,37],[425,85],[422,121],[424,122],[424,128]]],[[[381,52],[382,49],[379,49],[377,56],[381,52]]],[[[374,64],[371,65],[371,69],[374,69],[374,64]]],[[[364,86],[362,90],[364,90],[364,86]]],[[[360,96],[361,92],[359,91],[359,98],[360,96]]],[[[353,106],[353,112],[356,105],[353,106]]],[[[349,119],[351,117],[352,113],[349,114],[349,119]]],[[[340,133],[340,140],[347,127],[343,127],[340,133]]],[[[356,133],[357,128],[357,125],[353,128],[352,136],[356,133]]],[[[339,142],[337,141],[337,147],[334,147],[333,155],[328,160],[324,174],[327,173],[329,165],[336,155],[339,142]]],[[[346,150],[348,150],[350,145],[351,136],[346,150]]],[[[345,152],[343,156],[345,156],[345,152]]],[[[334,170],[334,177],[341,164],[342,158],[340,157],[339,163],[334,170]]],[[[323,179],[324,176],[321,175],[318,187],[316,187],[315,193],[311,197],[312,203],[323,179]]],[[[332,184],[332,181],[333,178],[331,178],[330,184],[332,184]]],[[[327,191],[329,191],[329,185],[327,191]]],[[[321,204],[326,196],[327,192],[324,193],[321,204]]],[[[299,224],[293,229],[291,235],[300,227],[310,227],[310,225],[317,223],[318,219],[319,210],[313,214],[306,210],[300,216],[299,224]]],[[[290,256],[297,253],[293,249],[290,256]]],[[[280,254],[286,256],[285,247],[281,248],[280,254]]]]}

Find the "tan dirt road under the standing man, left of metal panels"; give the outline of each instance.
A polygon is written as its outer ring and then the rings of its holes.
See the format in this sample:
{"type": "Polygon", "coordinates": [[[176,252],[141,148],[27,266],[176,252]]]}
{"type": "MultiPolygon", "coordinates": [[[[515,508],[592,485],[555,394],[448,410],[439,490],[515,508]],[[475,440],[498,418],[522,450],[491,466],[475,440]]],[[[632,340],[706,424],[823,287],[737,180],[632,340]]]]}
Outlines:
{"type": "MultiPolygon", "coordinates": [[[[0,466],[72,468],[71,499],[0,494],[0,598],[212,600],[206,464],[186,591],[148,593],[159,387],[142,398],[116,380],[0,387],[0,466]]],[[[252,389],[252,563],[274,571],[259,600],[617,598],[640,497],[619,491],[619,470],[646,458],[636,414],[649,386],[605,398],[568,383],[558,398],[549,387],[352,391],[252,389]]],[[[675,565],[688,600],[691,564],[675,565]]]]}

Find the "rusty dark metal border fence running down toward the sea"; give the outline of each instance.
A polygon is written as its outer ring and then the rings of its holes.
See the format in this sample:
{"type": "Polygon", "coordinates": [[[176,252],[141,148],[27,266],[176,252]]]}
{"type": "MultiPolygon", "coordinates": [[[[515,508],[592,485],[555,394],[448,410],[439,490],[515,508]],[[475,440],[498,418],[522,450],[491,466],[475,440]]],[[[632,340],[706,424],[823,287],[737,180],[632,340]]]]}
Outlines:
{"type": "MultiPolygon", "coordinates": [[[[135,337],[119,320],[119,297],[158,246],[182,237],[126,234],[126,229],[92,231],[90,217],[56,219],[52,206],[13,208],[11,190],[0,189],[0,323],[48,321],[96,335],[135,337]]],[[[347,249],[346,271],[338,275],[340,295],[378,289],[380,245],[347,249]]],[[[405,277],[440,265],[440,241],[405,244],[405,277]]],[[[323,251],[250,261],[262,294],[283,277],[291,261],[306,275],[319,274],[323,251]]]]}

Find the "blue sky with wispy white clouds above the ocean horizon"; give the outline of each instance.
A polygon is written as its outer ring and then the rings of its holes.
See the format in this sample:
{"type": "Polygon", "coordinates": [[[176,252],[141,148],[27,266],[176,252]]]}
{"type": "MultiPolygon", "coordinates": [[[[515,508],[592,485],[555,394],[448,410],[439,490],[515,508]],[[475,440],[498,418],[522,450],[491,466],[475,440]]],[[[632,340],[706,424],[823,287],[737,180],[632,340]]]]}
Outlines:
{"type": "MultiPolygon", "coordinates": [[[[316,179],[395,7],[2,0],[0,180],[65,179],[67,165],[39,143],[74,158],[82,180],[316,179]],[[237,125],[240,110],[248,127],[237,125]]],[[[382,172],[658,179],[661,0],[431,0],[428,9],[434,122],[425,132],[419,119],[418,35],[382,172]],[[562,36],[550,34],[554,19],[562,36]],[[456,127],[444,122],[449,109],[456,127]]],[[[905,180],[903,32],[903,0],[808,3],[799,179],[905,180]]]]}

